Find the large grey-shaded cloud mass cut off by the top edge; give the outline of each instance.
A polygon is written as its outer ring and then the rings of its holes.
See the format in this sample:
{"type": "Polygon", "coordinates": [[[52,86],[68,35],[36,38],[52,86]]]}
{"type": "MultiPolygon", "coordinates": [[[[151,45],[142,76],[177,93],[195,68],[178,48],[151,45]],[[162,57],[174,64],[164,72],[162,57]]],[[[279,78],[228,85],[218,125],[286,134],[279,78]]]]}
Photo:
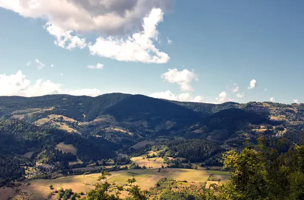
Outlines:
{"type": "Polygon", "coordinates": [[[42,18],[62,30],[125,34],[139,28],[153,8],[167,10],[171,0],[0,0],[0,7],[23,17],[42,18]]]}

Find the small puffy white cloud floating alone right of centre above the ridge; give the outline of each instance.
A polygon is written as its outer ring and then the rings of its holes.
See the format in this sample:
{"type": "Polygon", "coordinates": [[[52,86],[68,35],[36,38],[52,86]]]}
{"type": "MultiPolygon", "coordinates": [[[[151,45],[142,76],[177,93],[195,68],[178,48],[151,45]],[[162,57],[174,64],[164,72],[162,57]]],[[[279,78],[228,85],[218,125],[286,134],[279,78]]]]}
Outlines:
{"type": "Polygon", "coordinates": [[[168,69],[168,72],[162,74],[163,79],[169,83],[177,83],[180,85],[182,91],[191,92],[193,88],[191,86],[192,80],[198,80],[194,71],[188,71],[186,69],[178,71],[177,69],[168,69]]]}

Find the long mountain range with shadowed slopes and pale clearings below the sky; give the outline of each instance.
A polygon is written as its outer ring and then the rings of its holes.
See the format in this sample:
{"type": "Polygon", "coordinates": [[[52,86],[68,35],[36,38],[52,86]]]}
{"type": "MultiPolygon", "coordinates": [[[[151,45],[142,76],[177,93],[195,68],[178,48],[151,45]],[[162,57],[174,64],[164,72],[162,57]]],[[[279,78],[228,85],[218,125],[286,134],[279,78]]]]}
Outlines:
{"type": "MultiPolygon", "coordinates": [[[[160,136],[231,143],[260,134],[282,135],[304,121],[303,104],[206,104],[124,93],[0,96],[0,118],[97,136],[128,147],[160,136]]],[[[297,128],[298,129],[298,128],[297,128]]]]}

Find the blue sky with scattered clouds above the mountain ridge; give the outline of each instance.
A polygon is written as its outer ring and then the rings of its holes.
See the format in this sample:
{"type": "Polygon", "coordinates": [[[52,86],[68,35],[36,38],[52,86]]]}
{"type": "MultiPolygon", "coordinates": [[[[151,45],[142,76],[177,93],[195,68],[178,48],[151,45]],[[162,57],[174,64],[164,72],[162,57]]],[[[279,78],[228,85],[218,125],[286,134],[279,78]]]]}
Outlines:
{"type": "Polygon", "coordinates": [[[304,103],[301,0],[0,0],[0,95],[304,103]]]}

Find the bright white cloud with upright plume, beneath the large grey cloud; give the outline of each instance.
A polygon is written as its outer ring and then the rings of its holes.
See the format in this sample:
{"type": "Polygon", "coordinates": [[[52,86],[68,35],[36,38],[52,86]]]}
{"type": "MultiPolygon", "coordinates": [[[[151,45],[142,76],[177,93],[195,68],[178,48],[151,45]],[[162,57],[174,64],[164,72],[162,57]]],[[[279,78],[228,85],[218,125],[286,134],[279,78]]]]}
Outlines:
{"type": "Polygon", "coordinates": [[[170,59],[168,54],[161,52],[153,43],[158,41],[156,26],[163,21],[163,14],[161,9],[152,9],[143,19],[143,30],[127,39],[112,36],[97,38],[95,44],[89,45],[91,54],[120,61],[167,63],[170,59]]]}

